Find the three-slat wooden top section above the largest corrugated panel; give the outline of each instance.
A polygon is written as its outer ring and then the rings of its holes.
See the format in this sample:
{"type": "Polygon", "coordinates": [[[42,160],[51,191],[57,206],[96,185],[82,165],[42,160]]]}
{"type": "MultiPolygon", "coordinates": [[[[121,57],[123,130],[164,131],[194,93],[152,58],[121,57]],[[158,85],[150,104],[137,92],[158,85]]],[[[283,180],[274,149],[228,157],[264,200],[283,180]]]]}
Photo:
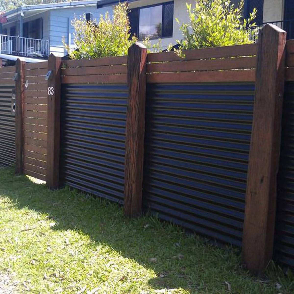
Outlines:
{"type": "Polygon", "coordinates": [[[148,83],[254,82],[257,45],[184,50],[147,56],[148,83]]]}

